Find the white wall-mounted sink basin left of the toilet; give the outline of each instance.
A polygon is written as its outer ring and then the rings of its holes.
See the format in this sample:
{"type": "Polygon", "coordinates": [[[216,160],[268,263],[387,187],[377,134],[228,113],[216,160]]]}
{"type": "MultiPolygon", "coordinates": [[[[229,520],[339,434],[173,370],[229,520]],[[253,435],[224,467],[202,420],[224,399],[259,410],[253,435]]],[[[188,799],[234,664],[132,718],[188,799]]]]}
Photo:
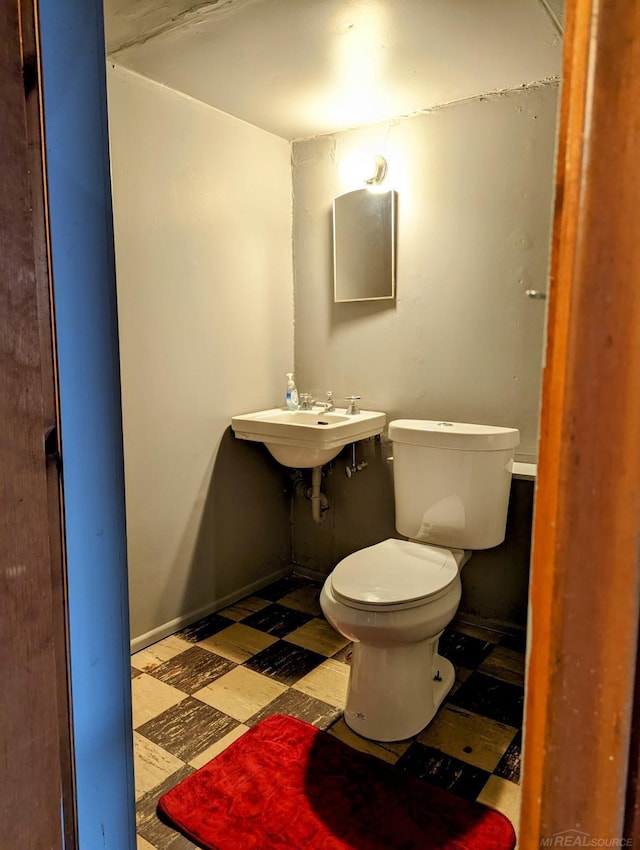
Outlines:
{"type": "Polygon", "coordinates": [[[279,407],[234,416],[231,427],[241,440],[264,443],[283,466],[322,466],[343,446],[380,434],[386,416],[362,410],[348,416],[345,409],[286,410],[279,407]]]}

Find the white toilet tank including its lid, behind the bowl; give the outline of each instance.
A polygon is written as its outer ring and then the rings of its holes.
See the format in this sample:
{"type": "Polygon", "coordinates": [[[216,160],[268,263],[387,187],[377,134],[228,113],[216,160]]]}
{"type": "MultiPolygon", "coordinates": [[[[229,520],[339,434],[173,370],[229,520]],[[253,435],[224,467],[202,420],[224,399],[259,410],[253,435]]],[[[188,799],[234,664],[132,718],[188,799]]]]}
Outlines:
{"type": "Polygon", "coordinates": [[[502,543],[517,428],[396,419],[389,439],[400,534],[459,549],[502,543]]]}

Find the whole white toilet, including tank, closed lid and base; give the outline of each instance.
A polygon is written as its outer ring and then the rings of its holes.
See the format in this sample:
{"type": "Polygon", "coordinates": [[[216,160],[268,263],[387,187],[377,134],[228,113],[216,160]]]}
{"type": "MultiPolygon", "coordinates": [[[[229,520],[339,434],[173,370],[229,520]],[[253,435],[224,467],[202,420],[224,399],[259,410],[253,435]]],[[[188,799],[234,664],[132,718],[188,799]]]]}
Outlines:
{"type": "Polygon", "coordinates": [[[504,540],[516,428],[398,419],[393,442],[396,528],[344,558],[320,605],[354,642],[344,719],[374,741],[423,729],[453,685],[438,638],[460,602],[472,549],[504,540]]]}

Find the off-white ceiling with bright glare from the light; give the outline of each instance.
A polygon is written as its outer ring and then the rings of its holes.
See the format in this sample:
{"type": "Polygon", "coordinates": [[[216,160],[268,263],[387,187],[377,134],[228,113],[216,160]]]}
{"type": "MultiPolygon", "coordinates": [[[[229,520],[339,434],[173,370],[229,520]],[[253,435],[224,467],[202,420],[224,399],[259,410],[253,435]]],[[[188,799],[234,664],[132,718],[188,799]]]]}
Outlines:
{"type": "Polygon", "coordinates": [[[562,0],[105,0],[109,58],[285,139],[556,78],[562,0]]]}

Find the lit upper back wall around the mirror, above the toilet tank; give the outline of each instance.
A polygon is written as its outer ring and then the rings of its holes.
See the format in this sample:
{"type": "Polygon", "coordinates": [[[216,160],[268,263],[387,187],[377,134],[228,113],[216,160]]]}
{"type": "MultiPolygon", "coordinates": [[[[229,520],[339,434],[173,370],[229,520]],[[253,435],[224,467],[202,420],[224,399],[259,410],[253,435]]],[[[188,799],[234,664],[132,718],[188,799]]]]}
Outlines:
{"type": "Polygon", "coordinates": [[[537,448],[558,86],[487,95],[293,147],[298,389],[389,418],[516,426],[537,448]],[[349,152],[398,191],[395,302],[332,302],[331,203],[349,152]]]}

